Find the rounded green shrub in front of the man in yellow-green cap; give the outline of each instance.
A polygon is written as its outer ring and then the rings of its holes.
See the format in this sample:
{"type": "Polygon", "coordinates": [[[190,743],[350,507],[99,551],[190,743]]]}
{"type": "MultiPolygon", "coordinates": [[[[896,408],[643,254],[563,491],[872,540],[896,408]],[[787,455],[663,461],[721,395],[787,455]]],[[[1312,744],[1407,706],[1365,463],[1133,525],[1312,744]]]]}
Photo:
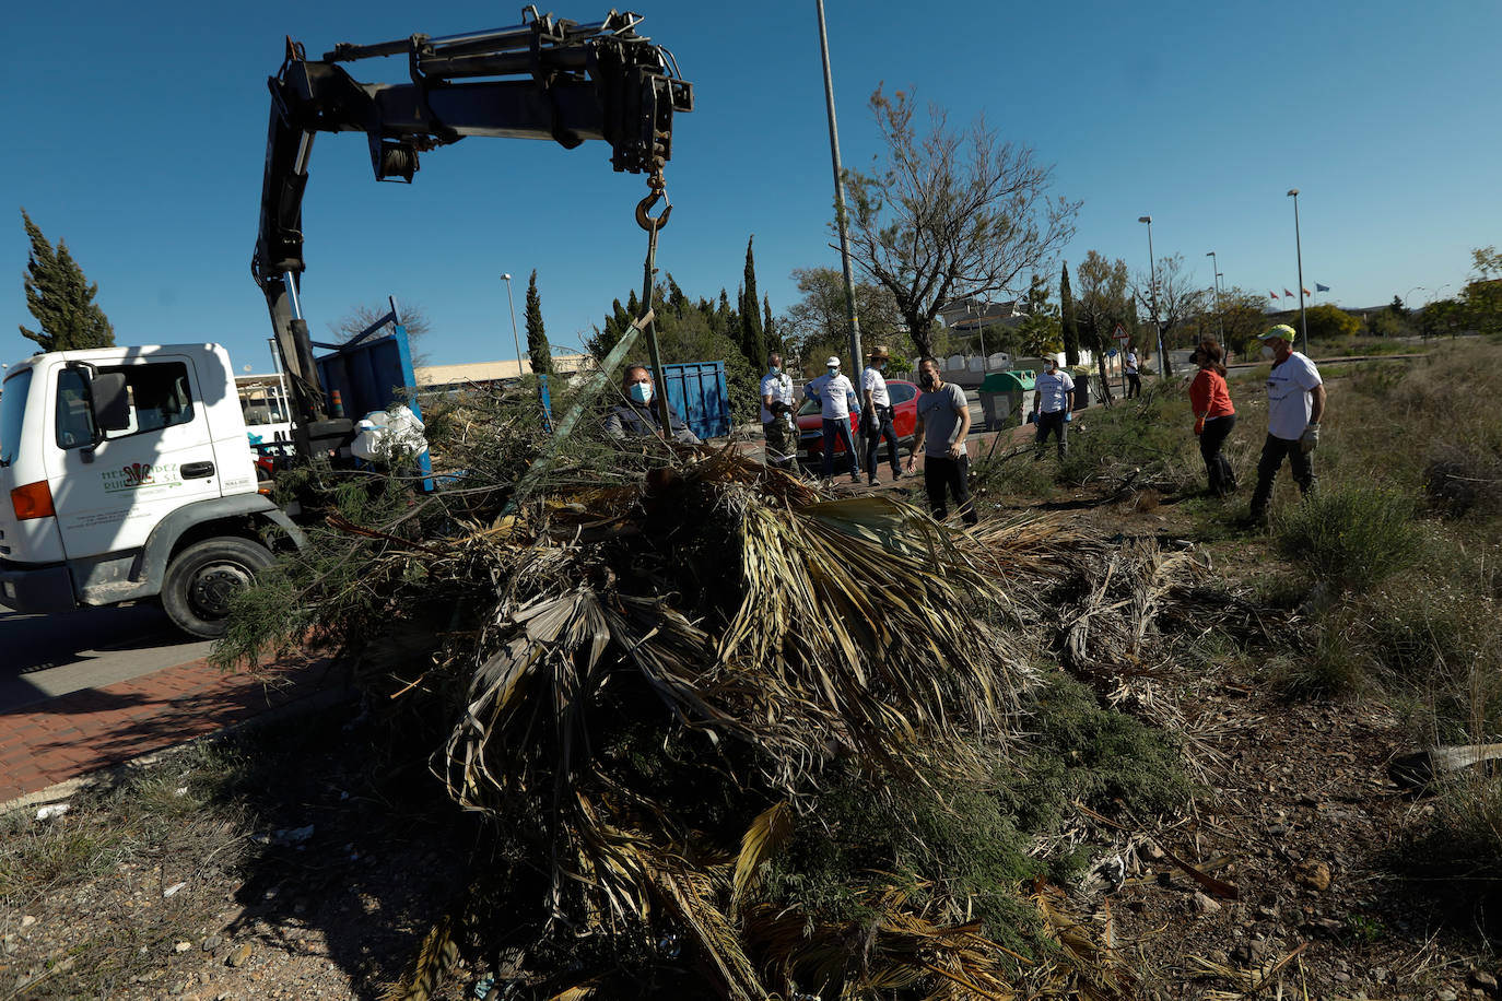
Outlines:
{"type": "Polygon", "coordinates": [[[1316,492],[1278,527],[1283,555],[1343,591],[1365,591],[1413,566],[1421,548],[1413,501],[1385,488],[1316,492]]]}

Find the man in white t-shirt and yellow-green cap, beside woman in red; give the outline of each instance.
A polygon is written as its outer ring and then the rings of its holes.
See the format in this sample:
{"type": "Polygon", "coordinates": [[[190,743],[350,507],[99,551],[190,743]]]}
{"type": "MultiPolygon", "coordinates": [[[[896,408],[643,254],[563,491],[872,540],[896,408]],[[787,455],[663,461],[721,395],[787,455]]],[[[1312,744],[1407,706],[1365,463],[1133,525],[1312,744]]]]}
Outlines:
{"type": "Polygon", "coordinates": [[[1272,483],[1283,459],[1293,467],[1293,482],[1307,497],[1314,489],[1310,453],[1319,444],[1319,422],[1325,416],[1325,383],[1314,362],[1293,350],[1293,327],[1278,324],[1259,338],[1263,357],[1271,351],[1268,374],[1268,440],[1257,461],[1257,489],[1251,494],[1251,519],[1265,521],[1272,483]]]}

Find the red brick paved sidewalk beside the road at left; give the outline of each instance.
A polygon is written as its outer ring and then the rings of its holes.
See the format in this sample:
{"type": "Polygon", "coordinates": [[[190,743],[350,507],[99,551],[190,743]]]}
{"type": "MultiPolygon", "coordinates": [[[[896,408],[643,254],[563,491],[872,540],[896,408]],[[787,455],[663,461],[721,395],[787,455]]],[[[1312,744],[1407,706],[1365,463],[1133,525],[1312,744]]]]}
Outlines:
{"type": "Polygon", "coordinates": [[[194,660],[0,711],[0,806],[341,683],[321,657],[285,660],[255,677],[194,660]]]}

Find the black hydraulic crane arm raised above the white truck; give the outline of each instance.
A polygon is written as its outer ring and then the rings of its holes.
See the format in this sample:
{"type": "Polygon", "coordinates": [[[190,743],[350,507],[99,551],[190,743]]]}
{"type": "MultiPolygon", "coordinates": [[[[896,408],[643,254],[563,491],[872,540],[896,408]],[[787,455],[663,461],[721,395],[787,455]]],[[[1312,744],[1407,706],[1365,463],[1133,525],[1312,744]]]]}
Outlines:
{"type": "Polygon", "coordinates": [[[266,294],[290,378],[303,455],[347,434],[330,422],[299,302],[302,198],[317,132],[365,132],[376,180],[412,182],[418,155],[467,135],[554,140],[572,149],[605,140],[617,171],[658,174],[671,156],[673,113],[692,111],[692,86],[671,54],[611,11],[596,24],[539,15],[446,38],[413,35],[379,45],[339,44],[309,60],[287,39],[272,92],[260,233],[251,270],[266,294]],[[363,84],[339,63],[406,56],[410,83],[363,84]]]}

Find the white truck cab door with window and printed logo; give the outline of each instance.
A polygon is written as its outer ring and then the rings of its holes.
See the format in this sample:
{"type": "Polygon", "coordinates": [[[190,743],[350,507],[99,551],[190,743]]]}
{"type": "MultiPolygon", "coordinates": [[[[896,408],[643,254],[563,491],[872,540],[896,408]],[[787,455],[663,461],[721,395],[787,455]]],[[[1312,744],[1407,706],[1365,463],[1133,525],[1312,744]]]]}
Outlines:
{"type": "Polygon", "coordinates": [[[87,377],[57,369],[47,473],[69,560],[138,549],[165,515],[221,492],[191,359],[128,359],[99,372],[125,374],[129,423],[95,444],[87,377]]]}

